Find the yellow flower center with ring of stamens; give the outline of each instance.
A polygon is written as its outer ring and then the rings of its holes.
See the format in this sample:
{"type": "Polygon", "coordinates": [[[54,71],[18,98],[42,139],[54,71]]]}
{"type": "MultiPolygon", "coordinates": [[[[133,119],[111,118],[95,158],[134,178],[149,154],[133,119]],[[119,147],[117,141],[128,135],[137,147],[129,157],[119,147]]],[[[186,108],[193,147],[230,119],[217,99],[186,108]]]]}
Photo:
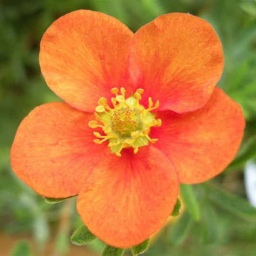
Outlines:
{"type": "Polygon", "coordinates": [[[100,139],[93,140],[97,144],[109,140],[108,146],[111,153],[121,157],[123,148],[133,147],[134,154],[138,152],[140,146],[146,146],[149,142],[155,143],[158,139],[149,137],[150,127],[161,126],[161,120],[155,119],[156,114],[150,111],[159,107],[159,101],[153,106],[152,98],[148,98],[148,108],[139,104],[143,89],[137,89],[129,98],[125,99],[125,89],[121,88],[118,95],[118,88],[112,88],[111,93],[115,97],[111,98],[113,108],[107,104],[106,98],[98,100],[95,117],[102,124],[93,120],[88,123],[91,128],[102,128],[104,135],[94,132],[93,134],[100,139]]]}

